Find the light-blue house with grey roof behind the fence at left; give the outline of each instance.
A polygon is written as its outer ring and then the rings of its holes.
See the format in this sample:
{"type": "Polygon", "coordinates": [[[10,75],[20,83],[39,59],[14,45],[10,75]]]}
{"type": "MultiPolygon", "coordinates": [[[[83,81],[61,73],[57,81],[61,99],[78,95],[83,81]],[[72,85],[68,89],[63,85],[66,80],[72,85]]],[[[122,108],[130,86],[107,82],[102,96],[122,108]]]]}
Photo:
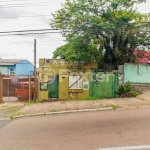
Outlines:
{"type": "Polygon", "coordinates": [[[34,65],[25,59],[0,59],[0,73],[4,75],[33,75],[34,65]]]}

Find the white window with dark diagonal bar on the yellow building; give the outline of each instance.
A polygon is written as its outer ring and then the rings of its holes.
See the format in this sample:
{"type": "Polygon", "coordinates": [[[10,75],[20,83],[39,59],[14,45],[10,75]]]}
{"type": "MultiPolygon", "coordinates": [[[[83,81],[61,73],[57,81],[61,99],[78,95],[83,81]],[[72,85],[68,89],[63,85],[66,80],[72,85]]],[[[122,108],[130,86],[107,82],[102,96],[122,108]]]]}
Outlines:
{"type": "Polygon", "coordinates": [[[69,76],[69,89],[82,89],[82,76],[69,76]]]}

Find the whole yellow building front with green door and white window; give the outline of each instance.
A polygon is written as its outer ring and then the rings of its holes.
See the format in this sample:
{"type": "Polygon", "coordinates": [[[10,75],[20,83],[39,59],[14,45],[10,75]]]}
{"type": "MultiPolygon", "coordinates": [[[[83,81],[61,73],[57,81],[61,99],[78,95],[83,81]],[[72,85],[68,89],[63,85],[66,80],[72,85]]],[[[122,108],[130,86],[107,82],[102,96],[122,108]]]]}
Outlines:
{"type": "Polygon", "coordinates": [[[39,60],[39,99],[82,99],[90,95],[90,71],[97,64],[62,59],[39,60]]]}

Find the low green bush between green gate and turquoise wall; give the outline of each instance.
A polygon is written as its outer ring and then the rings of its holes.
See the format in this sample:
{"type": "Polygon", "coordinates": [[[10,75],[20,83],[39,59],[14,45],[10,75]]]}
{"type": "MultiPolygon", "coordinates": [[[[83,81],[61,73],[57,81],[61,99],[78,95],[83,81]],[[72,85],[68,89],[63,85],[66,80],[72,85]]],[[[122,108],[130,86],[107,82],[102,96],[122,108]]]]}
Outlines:
{"type": "Polygon", "coordinates": [[[118,97],[136,97],[140,94],[139,91],[133,90],[130,83],[121,84],[115,92],[118,97]]]}

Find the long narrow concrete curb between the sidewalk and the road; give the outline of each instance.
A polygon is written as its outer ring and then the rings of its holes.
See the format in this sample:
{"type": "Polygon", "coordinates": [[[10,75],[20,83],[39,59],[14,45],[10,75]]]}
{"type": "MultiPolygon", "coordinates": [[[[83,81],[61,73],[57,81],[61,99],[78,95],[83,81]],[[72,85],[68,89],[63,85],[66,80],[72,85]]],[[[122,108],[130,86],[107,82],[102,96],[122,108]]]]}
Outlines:
{"type": "MultiPolygon", "coordinates": [[[[106,110],[113,110],[113,108],[107,107],[107,108],[99,108],[99,109],[80,109],[80,110],[70,110],[70,111],[60,111],[60,112],[35,113],[35,114],[14,116],[12,119],[22,118],[22,117],[42,116],[42,115],[44,116],[44,115],[78,113],[78,112],[96,112],[96,111],[106,111],[106,110]]],[[[0,118],[0,121],[1,120],[11,120],[11,118],[0,118]]]]}

